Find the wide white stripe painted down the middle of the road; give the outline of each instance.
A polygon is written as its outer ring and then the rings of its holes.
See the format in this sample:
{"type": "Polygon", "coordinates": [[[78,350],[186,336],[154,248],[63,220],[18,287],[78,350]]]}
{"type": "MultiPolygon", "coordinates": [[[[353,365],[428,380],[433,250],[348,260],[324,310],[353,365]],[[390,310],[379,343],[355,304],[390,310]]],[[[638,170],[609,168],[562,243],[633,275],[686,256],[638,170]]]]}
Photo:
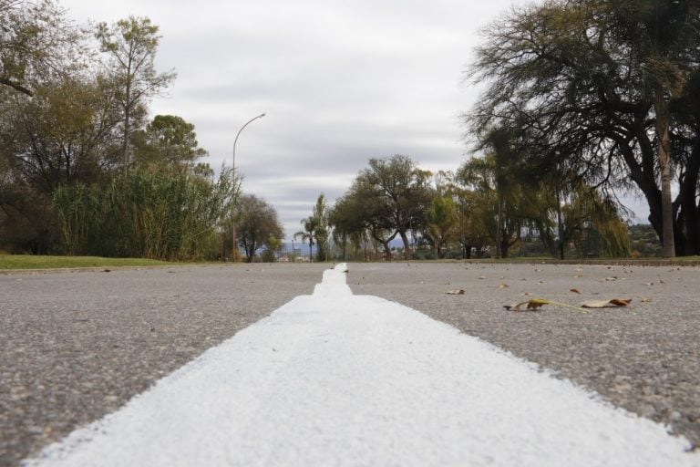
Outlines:
{"type": "Polygon", "coordinates": [[[650,420],[339,271],[26,466],[691,466],[650,420]]]}

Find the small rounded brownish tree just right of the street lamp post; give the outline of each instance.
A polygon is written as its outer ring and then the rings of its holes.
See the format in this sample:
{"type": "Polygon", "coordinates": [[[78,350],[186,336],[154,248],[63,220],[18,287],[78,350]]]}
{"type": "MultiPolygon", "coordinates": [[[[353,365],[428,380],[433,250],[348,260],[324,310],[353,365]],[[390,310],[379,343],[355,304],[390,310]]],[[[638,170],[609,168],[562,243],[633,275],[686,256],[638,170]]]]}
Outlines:
{"type": "Polygon", "coordinates": [[[283,237],[273,206],[254,194],[242,195],[237,214],[238,243],[245,251],[246,263],[252,263],[255,252],[264,244],[269,246],[271,237],[283,237]]]}

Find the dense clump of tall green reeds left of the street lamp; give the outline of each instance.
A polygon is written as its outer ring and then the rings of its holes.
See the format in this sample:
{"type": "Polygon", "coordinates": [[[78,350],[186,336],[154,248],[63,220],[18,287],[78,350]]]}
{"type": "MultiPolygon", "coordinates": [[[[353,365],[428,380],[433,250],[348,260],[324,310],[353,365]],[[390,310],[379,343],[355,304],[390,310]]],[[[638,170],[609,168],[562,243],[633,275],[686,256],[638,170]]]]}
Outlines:
{"type": "Polygon", "coordinates": [[[166,261],[216,257],[221,218],[239,184],[177,171],[129,171],[105,185],[61,186],[55,193],[67,254],[166,261]]]}

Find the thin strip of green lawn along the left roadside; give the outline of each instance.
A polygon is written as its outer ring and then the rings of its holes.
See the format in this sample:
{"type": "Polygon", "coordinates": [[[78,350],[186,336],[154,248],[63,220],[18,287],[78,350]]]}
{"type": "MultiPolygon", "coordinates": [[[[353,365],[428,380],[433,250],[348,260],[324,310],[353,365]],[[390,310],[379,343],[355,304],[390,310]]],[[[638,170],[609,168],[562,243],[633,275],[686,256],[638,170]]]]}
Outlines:
{"type": "Polygon", "coordinates": [[[137,267],[173,265],[165,261],[140,258],[100,258],[98,256],[42,256],[0,254],[0,271],[9,269],[64,269],[84,267],[137,267]]]}

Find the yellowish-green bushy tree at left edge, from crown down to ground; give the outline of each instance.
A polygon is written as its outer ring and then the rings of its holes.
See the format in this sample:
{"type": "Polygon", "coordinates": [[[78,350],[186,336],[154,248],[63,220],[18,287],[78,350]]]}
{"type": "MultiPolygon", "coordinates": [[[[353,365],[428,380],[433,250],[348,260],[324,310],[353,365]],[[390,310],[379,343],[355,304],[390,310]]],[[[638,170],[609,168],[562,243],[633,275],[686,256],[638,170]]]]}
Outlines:
{"type": "Polygon", "coordinates": [[[0,223],[15,226],[2,238],[13,250],[46,254],[58,238],[54,192],[107,179],[118,116],[98,79],[45,82],[31,99],[9,88],[0,94],[0,223]]]}

